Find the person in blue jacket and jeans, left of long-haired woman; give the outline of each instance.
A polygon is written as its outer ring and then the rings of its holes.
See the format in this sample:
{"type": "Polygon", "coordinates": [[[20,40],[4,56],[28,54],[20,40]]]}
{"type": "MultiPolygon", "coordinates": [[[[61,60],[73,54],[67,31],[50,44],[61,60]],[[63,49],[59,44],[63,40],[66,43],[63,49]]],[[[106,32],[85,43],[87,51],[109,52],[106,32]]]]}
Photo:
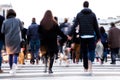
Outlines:
{"type": "Polygon", "coordinates": [[[39,48],[40,48],[40,36],[38,33],[38,24],[36,23],[36,18],[32,18],[32,23],[28,27],[27,36],[29,37],[29,44],[31,49],[32,58],[30,60],[31,64],[39,63],[39,48]]]}

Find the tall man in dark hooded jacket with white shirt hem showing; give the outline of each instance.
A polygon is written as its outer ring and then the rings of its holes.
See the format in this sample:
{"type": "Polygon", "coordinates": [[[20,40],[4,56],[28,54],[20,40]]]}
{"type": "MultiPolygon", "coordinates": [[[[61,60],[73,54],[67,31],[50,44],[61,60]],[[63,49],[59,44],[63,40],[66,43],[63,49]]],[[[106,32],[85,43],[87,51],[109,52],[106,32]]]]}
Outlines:
{"type": "Polygon", "coordinates": [[[90,8],[88,8],[89,2],[85,1],[83,3],[83,7],[84,9],[82,9],[75,18],[73,29],[70,35],[72,35],[77,25],[79,25],[79,35],[81,40],[80,45],[83,56],[84,71],[91,72],[92,62],[94,61],[95,55],[95,35],[97,36],[97,40],[99,40],[100,32],[96,15],[90,8]]]}

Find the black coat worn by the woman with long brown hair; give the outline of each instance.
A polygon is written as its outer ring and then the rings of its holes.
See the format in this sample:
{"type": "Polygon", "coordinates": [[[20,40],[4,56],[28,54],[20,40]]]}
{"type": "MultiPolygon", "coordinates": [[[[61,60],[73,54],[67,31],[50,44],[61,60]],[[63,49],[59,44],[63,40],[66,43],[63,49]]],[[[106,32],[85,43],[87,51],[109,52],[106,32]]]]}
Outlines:
{"type": "Polygon", "coordinates": [[[41,46],[45,46],[48,53],[58,53],[58,35],[62,37],[62,42],[67,40],[67,36],[60,30],[58,25],[54,25],[50,30],[45,30],[42,25],[39,25],[38,32],[40,34],[41,46]]]}

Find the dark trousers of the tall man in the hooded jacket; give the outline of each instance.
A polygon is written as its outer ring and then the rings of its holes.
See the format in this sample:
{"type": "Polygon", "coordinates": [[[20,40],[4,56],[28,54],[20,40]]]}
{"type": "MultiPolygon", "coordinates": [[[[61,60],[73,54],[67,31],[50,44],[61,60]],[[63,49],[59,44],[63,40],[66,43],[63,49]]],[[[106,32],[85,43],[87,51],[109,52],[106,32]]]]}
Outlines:
{"type": "Polygon", "coordinates": [[[83,66],[88,69],[88,59],[93,62],[95,58],[95,38],[81,38],[81,52],[83,66]]]}

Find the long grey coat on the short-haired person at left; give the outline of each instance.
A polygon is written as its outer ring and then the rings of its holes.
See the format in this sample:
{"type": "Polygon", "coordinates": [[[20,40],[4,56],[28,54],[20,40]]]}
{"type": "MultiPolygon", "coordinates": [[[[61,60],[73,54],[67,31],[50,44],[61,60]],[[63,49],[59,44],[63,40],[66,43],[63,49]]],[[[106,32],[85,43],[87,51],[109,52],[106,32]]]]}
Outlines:
{"type": "Polygon", "coordinates": [[[5,34],[5,47],[8,54],[20,52],[22,23],[19,19],[11,17],[3,22],[1,32],[5,34]]]}

